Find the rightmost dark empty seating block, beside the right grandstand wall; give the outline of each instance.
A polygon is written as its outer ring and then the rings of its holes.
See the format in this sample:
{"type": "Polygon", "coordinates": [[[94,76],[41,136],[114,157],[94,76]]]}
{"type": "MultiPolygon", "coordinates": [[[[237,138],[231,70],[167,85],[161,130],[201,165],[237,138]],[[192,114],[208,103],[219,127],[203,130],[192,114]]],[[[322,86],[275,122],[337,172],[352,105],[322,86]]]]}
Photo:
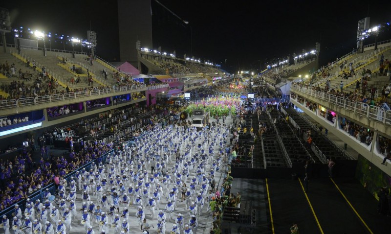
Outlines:
{"type": "Polygon", "coordinates": [[[319,129],[316,128],[315,125],[310,123],[304,117],[301,117],[292,107],[284,108],[283,110],[287,113],[289,118],[292,118],[293,121],[300,128],[300,137],[303,137],[303,140],[306,141],[308,135],[312,138],[312,143],[309,147],[311,147],[312,151],[315,151],[316,156],[318,156],[319,160],[322,163],[326,163],[327,159],[351,159],[348,157],[347,153],[344,152],[343,149],[338,147],[334,142],[329,140],[325,135],[319,132],[319,129]],[[308,134],[309,133],[309,134],[308,134]],[[313,146],[316,145],[317,148],[314,149],[313,146]]]}

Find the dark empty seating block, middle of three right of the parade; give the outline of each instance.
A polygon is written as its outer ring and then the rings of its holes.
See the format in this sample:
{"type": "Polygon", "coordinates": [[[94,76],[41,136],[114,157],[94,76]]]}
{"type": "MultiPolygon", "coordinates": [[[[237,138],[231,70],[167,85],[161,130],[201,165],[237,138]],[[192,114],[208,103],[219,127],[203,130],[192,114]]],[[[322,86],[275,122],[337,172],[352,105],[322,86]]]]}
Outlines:
{"type": "Polygon", "coordinates": [[[272,109],[270,117],[274,120],[273,124],[276,126],[278,135],[282,140],[283,147],[292,163],[304,163],[307,160],[313,160],[319,162],[316,157],[312,157],[310,153],[305,149],[303,143],[294,134],[292,128],[288,125],[282,114],[277,109],[272,109]]]}

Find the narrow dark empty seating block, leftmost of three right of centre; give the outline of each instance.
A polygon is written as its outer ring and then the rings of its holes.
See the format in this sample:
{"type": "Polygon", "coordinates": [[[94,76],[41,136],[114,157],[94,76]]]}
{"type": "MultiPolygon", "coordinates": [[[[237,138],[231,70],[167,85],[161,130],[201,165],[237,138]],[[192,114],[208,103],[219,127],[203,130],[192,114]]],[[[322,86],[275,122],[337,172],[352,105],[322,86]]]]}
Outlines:
{"type": "Polygon", "coordinates": [[[266,131],[261,134],[262,152],[266,167],[286,167],[287,162],[283,157],[281,145],[266,112],[261,113],[259,121],[266,127],[266,131]]]}

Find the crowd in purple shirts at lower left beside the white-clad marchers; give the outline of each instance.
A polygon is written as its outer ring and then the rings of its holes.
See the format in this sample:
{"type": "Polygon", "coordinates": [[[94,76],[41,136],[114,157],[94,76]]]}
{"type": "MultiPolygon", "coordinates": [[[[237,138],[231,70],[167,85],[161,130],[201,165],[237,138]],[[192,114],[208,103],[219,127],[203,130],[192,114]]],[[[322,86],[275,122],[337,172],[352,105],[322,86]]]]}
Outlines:
{"type": "Polygon", "coordinates": [[[0,160],[0,210],[12,206],[29,194],[54,181],[55,177],[64,176],[81,165],[99,158],[112,148],[112,142],[106,144],[96,140],[87,141],[79,151],[71,151],[58,159],[40,160],[33,164],[31,151],[25,147],[15,160],[0,160]]]}

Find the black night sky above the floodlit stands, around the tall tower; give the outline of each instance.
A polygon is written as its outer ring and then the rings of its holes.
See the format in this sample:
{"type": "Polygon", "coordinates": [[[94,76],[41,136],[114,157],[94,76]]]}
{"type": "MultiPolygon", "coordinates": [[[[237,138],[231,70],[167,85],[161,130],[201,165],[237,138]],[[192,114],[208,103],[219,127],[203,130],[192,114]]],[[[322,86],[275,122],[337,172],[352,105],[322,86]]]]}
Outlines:
{"type": "MultiPolygon", "coordinates": [[[[321,43],[321,65],[326,64],[356,47],[358,20],[369,16],[372,26],[391,18],[388,1],[370,5],[360,1],[159,1],[192,25],[196,58],[221,63],[232,72],[239,67],[264,69],[272,59],[314,49],[315,42],[321,43]]],[[[9,9],[13,27],[86,38],[91,25],[97,32],[97,54],[108,61],[119,59],[115,0],[15,0],[0,6],[9,9]]],[[[379,35],[378,41],[387,39],[390,32],[379,35]]],[[[367,39],[365,44],[372,41],[367,39]]]]}

